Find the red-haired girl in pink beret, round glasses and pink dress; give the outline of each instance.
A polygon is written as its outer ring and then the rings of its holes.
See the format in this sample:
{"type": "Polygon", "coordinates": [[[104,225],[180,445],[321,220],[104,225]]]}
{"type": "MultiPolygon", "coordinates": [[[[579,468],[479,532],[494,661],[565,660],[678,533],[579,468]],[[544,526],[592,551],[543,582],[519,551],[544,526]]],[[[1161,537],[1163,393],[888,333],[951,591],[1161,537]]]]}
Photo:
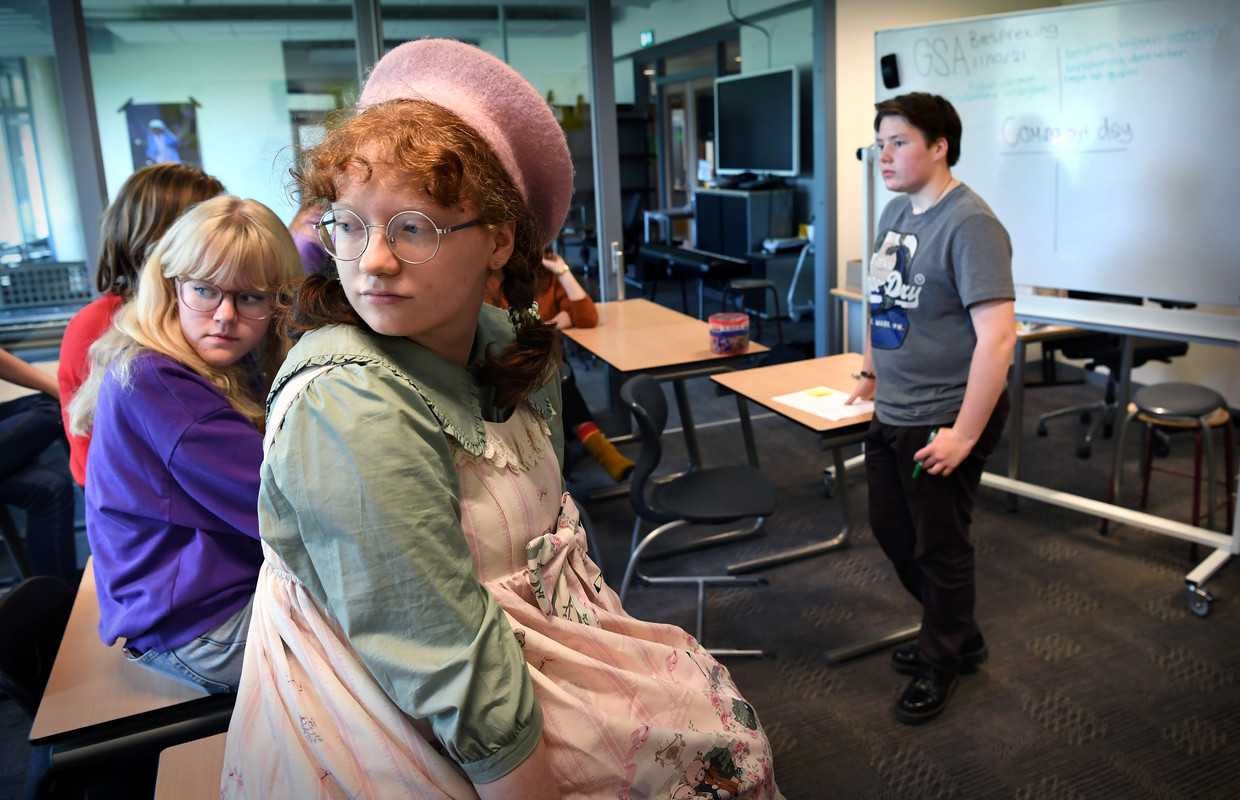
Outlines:
{"type": "Polygon", "coordinates": [[[563,491],[534,296],[572,175],[537,89],[448,40],[304,155],[335,268],[268,406],[221,798],[780,796],[727,670],[624,613],[563,491]]]}

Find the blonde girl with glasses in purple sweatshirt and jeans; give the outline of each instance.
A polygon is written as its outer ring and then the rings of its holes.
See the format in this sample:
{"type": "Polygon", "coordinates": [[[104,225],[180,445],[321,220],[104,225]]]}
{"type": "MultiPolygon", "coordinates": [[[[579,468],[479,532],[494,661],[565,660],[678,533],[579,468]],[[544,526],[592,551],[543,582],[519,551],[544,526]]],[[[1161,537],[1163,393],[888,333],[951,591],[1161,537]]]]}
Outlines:
{"type": "Polygon", "coordinates": [[[270,208],[205,200],[151,251],[69,403],[73,433],[94,433],[86,533],[99,638],[203,692],[241,680],[263,561],[263,398],[289,345],[273,311],[300,275],[270,208]]]}

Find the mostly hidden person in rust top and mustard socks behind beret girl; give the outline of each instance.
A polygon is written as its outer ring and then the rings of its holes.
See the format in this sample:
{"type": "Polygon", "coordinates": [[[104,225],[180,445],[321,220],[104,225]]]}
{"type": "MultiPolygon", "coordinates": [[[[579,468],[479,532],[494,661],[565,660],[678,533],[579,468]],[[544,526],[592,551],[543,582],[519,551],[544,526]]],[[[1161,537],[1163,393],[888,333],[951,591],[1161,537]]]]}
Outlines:
{"type": "MultiPolygon", "coordinates": [[[[546,272],[538,279],[538,316],[559,330],[598,325],[599,310],[594,308],[594,300],[578,283],[577,275],[568,268],[564,259],[548,251],[543,253],[542,263],[546,272]]],[[[486,301],[507,309],[508,304],[498,293],[500,278],[500,275],[495,275],[487,284],[486,301]]],[[[635,466],[632,459],[618,450],[616,445],[611,444],[611,440],[594,422],[594,414],[585,404],[582,389],[577,388],[577,378],[568,361],[559,365],[559,392],[564,409],[565,432],[578,438],[613,480],[619,482],[629,478],[635,466]]]]}

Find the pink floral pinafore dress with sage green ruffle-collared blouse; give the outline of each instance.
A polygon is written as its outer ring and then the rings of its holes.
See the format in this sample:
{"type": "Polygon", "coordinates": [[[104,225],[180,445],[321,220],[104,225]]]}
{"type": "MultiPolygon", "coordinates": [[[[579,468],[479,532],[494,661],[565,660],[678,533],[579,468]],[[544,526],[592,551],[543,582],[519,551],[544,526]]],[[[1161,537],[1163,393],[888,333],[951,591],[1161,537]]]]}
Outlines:
{"type": "Polygon", "coordinates": [[[780,796],[727,670],[590,561],[554,384],[505,413],[413,342],[326,329],[275,391],[322,363],[263,468],[222,798],[474,798],[539,737],[568,798],[780,796]]]}

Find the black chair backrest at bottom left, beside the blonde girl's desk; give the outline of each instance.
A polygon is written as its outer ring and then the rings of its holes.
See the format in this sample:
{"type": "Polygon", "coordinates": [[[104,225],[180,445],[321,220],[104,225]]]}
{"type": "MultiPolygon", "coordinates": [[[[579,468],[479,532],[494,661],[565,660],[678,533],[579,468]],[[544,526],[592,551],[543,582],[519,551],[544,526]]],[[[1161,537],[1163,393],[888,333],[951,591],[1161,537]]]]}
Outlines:
{"type": "Polygon", "coordinates": [[[73,609],[73,588],[51,576],[19,583],[0,599],[0,691],[33,719],[73,609]]]}

